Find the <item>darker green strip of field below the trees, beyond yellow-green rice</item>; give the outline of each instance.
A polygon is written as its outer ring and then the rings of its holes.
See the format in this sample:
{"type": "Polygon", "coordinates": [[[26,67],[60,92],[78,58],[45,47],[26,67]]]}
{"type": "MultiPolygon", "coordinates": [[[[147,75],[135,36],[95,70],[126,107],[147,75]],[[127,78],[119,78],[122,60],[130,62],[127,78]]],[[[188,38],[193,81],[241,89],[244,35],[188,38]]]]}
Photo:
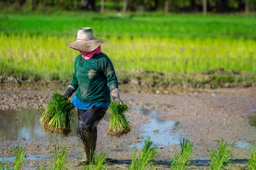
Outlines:
{"type": "Polygon", "coordinates": [[[171,36],[256,38],[254,16],[161,13],[56,12],[48,14],[0,14],[0,31],[6,33],[76,35],[90,26],[100,36],[171,36]]]}

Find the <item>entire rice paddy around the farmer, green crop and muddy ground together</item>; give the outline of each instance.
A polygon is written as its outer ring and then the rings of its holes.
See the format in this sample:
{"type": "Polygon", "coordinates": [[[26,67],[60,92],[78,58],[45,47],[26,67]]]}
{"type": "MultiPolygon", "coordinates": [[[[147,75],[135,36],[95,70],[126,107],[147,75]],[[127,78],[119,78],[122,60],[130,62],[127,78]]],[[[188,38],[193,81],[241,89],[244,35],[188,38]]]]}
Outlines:
{"type": "Polygon", "coordinates": [[[255,66],[253,13],[2,11],[0,169],[255,169],[255,66]],[[102,52],[113,62],[121,90],[125,82],[141,89],[250,88],[123,90],[131,131],[110,139],[106,115],[94,154],[99,167],[81,166],[77,121],[69,137],[54,140],[38,121],[52,94],[63,93],[72,78],[79,52],[65,45],[76,40],[80,27],[92,27],[95,37],[107,40],[102,52]],[[40,86],[45,82],[59,86],[40,86]]]}

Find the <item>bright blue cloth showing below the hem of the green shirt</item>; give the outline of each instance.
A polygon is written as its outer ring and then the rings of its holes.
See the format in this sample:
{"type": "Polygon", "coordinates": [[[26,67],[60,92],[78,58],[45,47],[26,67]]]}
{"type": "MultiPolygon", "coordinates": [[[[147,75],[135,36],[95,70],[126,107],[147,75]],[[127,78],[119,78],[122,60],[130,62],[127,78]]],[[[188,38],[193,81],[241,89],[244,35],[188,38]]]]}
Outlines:
{"type": "Polygon", "coordinates": [[[106,108],[110,103],[83,103],[79,101],[75,95],[74,99],[72,100],[72,104],[74,104],[74,106],[79,110],[90,110],[94,106],[106,108]]]}

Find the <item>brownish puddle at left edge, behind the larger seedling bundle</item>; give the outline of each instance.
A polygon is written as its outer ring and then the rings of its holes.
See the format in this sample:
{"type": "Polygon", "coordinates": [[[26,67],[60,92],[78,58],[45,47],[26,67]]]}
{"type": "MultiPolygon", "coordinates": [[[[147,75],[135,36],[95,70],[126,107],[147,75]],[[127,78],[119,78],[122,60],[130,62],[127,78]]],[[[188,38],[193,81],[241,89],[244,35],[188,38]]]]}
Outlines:
{"type": "MultiPolygon", "coordinates": [[[[42,133],[39,118],[43,110],[0,110],[0,141],[5,139],[46,138],[42,133]]],[[[74,117],[72,132],[68,136],[76,136],[77,117],[74,117]]]]}

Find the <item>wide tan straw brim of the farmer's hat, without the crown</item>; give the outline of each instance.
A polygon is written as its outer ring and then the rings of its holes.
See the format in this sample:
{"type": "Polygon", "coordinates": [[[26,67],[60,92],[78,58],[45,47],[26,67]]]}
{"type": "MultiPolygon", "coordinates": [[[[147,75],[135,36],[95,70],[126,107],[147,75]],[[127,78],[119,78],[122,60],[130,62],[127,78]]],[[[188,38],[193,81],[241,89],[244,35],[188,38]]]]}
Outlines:
{"type": "Polygon", "coordinates": [[[106,43],[106,40],[93,38],[92,40],[88,40],[88,41],[77,40],[77,41],[67,44],[66,46],[69,46],[70,48],[73,48],[73,49],[79,50],[79,51],[83,51],[83,52],[92,52],[98,46],[100,46],[102,43],[106,43]]]}

